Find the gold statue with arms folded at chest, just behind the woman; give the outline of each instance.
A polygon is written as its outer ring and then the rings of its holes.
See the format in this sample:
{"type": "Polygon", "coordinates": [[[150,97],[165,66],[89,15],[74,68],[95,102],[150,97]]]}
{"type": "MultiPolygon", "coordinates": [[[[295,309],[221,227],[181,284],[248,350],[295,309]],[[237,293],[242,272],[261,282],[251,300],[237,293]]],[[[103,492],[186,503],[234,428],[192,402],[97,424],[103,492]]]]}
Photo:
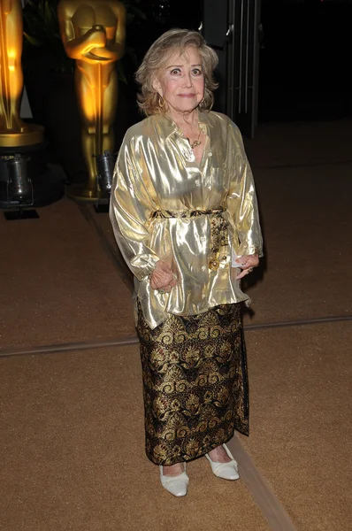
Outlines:
{"type": "Polygon", "coordinates": [[[76,196],[95,199],[97,172],[92,156],[115,149],[118,74],[114,63],[124,54],[126,10],[118,0],[61,0],[57,12],[66,54],[76,59],[75,85],[88,167],[88,183],[76,196]]]}

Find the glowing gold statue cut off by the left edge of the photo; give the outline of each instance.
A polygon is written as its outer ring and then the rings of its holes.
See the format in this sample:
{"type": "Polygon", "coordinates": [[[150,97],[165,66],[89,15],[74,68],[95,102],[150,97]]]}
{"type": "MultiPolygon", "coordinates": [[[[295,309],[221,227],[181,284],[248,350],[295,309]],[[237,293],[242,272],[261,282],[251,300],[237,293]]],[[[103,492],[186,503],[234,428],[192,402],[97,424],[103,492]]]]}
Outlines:
{"type": "Polygon", "coordinates": [[[42,127],[19,118],[23,90],[20,0],[0,0],[0,148],[42,142],[42,127]]]}

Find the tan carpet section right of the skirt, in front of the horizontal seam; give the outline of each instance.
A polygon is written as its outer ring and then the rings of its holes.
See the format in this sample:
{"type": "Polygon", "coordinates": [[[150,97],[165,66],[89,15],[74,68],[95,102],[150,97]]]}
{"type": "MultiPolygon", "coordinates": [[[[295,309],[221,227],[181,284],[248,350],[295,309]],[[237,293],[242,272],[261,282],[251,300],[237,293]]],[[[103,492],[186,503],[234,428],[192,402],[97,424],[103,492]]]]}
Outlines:
{"type": "Polygon", "coordinates": [[[251,331],[241,442],[299,531],[349,531],[352,323],[251,331]]]}

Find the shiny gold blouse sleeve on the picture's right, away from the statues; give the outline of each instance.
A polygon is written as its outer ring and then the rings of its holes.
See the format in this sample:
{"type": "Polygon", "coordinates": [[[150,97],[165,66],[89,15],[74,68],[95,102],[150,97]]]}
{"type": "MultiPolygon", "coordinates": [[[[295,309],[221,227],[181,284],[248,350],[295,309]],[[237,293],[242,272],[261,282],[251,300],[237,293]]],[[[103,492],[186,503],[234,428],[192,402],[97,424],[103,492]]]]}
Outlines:
{"type": "Polygon", "coordinates": [[[233,178],[227,196],[227,209],[233,218],[233,226],[239,241],[236,252],[239,256],[257,253],[262,257],[263,239],[253,174],[243,147],[241,133],[235,126],[232,127],[232,131],[237,153],[233,168],[229,168],[233,172],[233,178]]]}

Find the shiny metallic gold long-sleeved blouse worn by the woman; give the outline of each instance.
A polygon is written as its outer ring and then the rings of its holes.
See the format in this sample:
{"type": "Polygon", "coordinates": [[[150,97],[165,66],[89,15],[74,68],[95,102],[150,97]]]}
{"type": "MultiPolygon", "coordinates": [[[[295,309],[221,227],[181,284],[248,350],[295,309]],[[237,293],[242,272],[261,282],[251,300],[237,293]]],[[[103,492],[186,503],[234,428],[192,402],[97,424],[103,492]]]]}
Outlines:
{"type": "Polygon", "coordinates": [[[151,328],[168,313],[249,303],[236,280],[232,251],[263,256],[241,133],[218,112],[199,113],[199,127],[206,135],[199,166],[179,127],[159,114],[128,129],[115,165],[111,224],[151,328]],[[159,259],[178,277],[170,293],[150,289],[149,274],[159,259]]]}

